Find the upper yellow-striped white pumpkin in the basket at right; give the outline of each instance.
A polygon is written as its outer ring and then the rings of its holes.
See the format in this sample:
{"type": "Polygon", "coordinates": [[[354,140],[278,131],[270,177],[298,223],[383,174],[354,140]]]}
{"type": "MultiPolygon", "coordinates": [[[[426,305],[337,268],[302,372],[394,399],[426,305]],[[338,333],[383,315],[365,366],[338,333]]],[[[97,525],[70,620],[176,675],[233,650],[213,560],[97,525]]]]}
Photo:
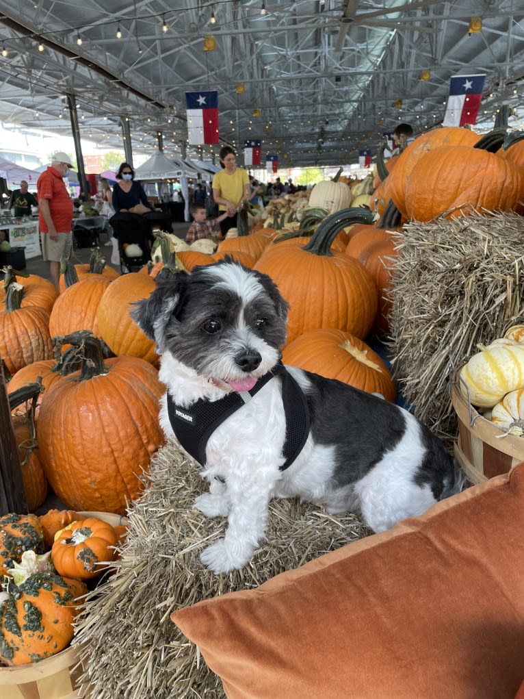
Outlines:
{"type": "Polygon", "coordinates": [[[524,345],[494,345],[474,354],[460,379],[460,390],[472,405],[493,408],[509,391],[524,388],[524,345]]]}

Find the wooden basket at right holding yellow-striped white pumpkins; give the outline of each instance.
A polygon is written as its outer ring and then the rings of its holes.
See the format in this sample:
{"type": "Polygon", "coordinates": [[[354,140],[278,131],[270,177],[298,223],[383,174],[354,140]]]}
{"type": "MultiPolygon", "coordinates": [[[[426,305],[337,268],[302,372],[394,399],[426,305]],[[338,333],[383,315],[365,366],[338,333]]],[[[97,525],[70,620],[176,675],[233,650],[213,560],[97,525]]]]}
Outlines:
{"type": "Polygon", "coordinates": [[[482,483],[524,461],[524,438],[507,434],[482,417],[463,396],[460,382],[457,371],[451,380],[451,404],[458,417],[455,456],[470,481],[482,483]]]}

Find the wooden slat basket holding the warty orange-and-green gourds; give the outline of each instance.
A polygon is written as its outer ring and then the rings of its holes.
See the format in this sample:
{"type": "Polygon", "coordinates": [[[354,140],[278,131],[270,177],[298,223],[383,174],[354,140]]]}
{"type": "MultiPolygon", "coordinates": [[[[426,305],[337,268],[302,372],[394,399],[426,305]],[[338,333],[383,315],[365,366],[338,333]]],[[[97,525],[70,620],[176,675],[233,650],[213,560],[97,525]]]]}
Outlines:
{"type": "MultiPolygon", "coordinates": [[[[113,526],[128,524],[126,517],[111,512],[79,512],[84,517],[99,517],[113,526]]],[[[78,652],[68,647],[39,663],[0,668],[1,699],[80,699],[76,679],[82,668],[78,652]]]]}

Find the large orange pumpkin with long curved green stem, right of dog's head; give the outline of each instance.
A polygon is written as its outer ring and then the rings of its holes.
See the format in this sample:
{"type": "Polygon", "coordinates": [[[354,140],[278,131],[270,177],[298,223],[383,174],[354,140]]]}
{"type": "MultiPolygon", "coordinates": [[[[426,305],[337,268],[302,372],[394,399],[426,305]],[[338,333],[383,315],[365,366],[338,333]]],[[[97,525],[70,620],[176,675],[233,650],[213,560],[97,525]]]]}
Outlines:
{"type": "Polygon", "coordinates": [[[372,222],[369,210],[345,209],[320,224],[305,247],[274,244],[255,269],[269,275],[290,305],[288,342],[308,330],[338,328],[364,338],[377,314],[378,292],[370,273],[344,252],[330,252],[344,226],[372,222]]]}

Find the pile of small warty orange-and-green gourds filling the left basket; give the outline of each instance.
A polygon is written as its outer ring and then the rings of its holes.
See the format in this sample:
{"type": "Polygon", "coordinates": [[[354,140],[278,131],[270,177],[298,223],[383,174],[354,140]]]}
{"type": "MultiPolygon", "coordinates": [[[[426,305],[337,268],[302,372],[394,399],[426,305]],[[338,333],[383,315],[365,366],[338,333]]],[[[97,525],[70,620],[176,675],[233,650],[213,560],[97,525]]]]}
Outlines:
{"type": "Polygon", "coordinates": [[[125,533],[73,511],[0,517],[0,665],[36,663],[70,644],[86,581],[115,560],[125,533]]]}

